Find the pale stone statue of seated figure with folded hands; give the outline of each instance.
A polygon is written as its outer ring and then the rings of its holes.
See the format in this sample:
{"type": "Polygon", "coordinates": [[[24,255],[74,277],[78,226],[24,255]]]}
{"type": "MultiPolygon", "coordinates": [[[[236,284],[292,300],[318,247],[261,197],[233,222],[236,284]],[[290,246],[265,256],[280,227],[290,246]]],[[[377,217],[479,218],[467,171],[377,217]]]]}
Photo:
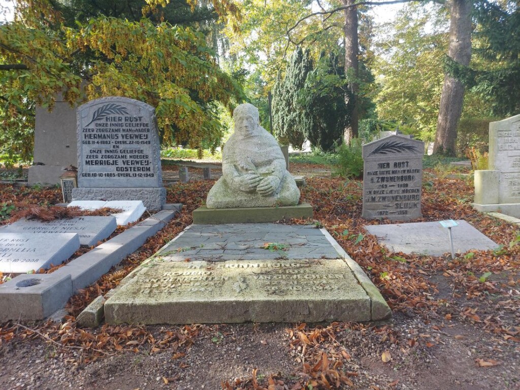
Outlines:
{"type": "Polygon", "coordinates": [[[208,209],[291,206],[300,190],[285,169],[275,138],[260,126],[258,110],[249,103],[233,111],[235,133],[222,151],[222,177],[206,199],[208,209]]]}

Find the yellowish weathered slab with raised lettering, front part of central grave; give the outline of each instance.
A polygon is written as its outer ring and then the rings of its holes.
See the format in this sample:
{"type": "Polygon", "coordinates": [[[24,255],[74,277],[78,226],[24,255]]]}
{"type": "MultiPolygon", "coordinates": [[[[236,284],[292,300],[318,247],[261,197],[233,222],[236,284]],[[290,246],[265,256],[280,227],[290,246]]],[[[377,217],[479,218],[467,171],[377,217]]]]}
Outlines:
{"type": "Polygon", "coordinates": [[[343,259],[155,261],[105,304],[107,323],[370,321],[343,259]]]}

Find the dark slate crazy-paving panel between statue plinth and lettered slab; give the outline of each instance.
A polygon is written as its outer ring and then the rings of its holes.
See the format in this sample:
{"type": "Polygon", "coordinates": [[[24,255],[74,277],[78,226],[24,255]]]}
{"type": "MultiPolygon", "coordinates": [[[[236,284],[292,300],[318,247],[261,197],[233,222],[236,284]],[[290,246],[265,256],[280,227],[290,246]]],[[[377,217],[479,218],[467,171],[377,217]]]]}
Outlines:
{"type": "Polygon", "coordinates": [[[224,224],[191,225],[162,251],[169,261],[226,261],[337,258],[338,254],[314,225],[224,224]],[[270,251],[266,243],[286,245],[270,251]]]}

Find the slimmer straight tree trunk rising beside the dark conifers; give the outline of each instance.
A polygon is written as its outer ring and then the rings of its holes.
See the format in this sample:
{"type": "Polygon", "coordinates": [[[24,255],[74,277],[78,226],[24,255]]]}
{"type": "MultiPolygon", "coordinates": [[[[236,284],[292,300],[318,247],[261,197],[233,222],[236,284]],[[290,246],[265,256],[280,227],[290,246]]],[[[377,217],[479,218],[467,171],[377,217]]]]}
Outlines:
{"type": "MultiPolygon", "coordinates": [[[[343,5],[352,5],[354,0],[342,0],[343,5]]],[[[359,62],[358,62],[358,19],[357,8],[350,7],[345,9],[345,75],[347,80],[350,79],[348,88],[352,92],[351,97],[354,103],[347,101],[347,105],[352,105],[352,114],[350,116],[350,125],[345,129],[344,139],[347,144],[350,140],[358,136],[358,76],[359,76],[359,62]]]]}

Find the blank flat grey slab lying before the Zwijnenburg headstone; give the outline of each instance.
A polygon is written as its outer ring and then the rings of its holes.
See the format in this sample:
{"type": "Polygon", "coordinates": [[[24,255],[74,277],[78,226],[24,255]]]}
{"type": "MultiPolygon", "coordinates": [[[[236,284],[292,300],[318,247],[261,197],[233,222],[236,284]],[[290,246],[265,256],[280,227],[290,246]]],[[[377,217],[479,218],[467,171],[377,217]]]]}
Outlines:
{"type": "MultiPolygon", "coordinates": [[[[457,220],[459,226],[451,229],[455,252],[471,250],[487,251],[498,244],[483,235],[465,220],[457,220]]],[[[365,229],[378,237],[378,242],[393,252],[419,253],[441,256],[451,252],[448,229],[438,222],[410,224],[369,225],[365,229]]]]}

